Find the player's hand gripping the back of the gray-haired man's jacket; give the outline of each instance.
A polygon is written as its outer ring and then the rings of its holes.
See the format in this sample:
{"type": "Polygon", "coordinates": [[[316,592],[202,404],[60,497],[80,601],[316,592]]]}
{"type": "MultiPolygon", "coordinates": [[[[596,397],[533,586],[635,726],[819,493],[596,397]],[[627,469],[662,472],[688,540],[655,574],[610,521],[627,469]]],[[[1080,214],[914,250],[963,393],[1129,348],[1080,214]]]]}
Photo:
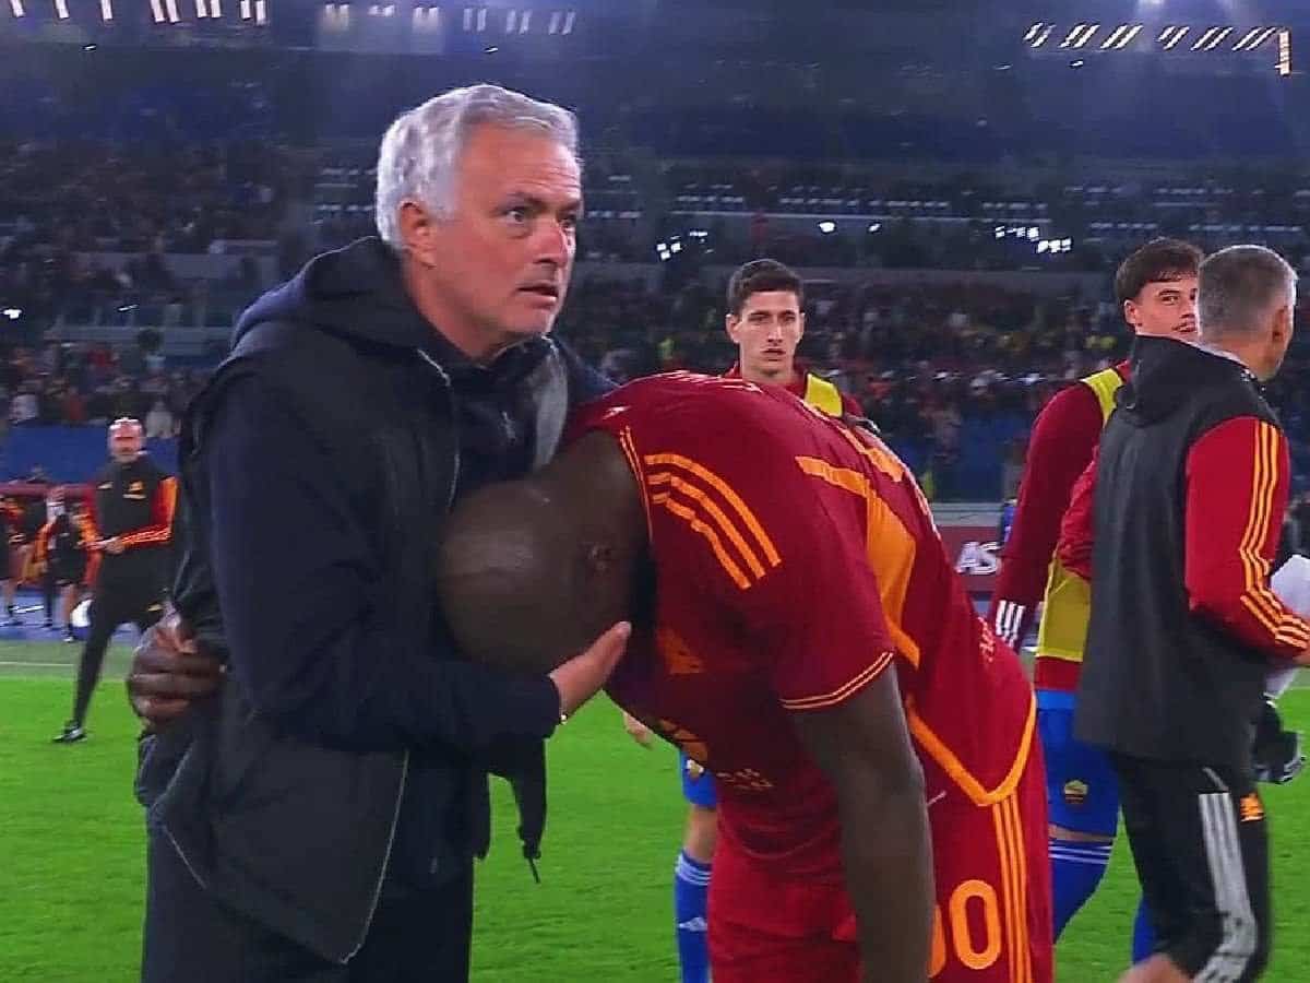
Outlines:
{"type": "Polygon", "coordinates": [[[182,616],[169,611],[136,646],[127,676],[127,699],[138,717],[161,727],[217,691],[223,671],[221,662],[199,653],[182,616]]]}

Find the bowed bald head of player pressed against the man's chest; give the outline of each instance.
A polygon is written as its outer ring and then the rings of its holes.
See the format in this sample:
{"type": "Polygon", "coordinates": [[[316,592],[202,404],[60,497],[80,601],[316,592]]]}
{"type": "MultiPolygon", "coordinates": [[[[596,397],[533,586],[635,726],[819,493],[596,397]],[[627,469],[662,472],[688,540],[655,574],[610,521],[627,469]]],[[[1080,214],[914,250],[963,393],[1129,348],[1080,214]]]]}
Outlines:
{"type": "Polygon", "coordinates": [[[622,451],[592,434],[540,474],[455,509],[439,553],[441,611],[470,659],[548,672],[631,616],[645,549],[622,451]]]}

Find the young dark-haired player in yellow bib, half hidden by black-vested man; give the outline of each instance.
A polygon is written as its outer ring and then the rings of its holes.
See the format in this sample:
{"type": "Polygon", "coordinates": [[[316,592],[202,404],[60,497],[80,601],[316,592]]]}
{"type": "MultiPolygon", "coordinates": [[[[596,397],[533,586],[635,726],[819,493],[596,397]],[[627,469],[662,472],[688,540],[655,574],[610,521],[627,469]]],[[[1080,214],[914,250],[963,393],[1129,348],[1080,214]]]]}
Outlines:
{"type": "MultiPolygon", "coordinates": [[[[1195,337],[1200,262],[1196,246],[1172,239],[1153,240],[1124,260],[1115,292],[1137,338],[1195,337]]],[[[1091,461],[1115,393],[1128,375],[1128,362],[1095,372],[1060,392],[1038,414],[992,596],[992,624],[1015,649],[1027,636],[1038,603],[1044,604],[1035,684],[1057,938],[1106,873],[1119,824],[1119,796],[1106,756],[1072,734],[1090,592],[1086,581],[1061,566],[1055,547],[1074,481],[1091,461]]],[[[1133,948],[1146,946],[1145,921],[1138,919],[1133,948]]]]}

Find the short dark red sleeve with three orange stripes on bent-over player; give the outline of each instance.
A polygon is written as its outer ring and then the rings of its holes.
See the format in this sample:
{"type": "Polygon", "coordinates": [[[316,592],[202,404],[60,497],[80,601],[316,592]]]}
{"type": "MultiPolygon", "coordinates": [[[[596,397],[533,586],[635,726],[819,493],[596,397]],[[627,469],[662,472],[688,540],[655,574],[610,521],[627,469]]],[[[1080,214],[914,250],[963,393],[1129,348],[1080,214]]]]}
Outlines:
{"type": "Polygon", "coordinates": [[[620,440],[641,468],[658,577],[735,620],[779,704],[803,712],[859,692],[891,665],[892,644],[867,502],[807,473],[814,448],[796,426],[799,436],[747,425],[620,440]]]}

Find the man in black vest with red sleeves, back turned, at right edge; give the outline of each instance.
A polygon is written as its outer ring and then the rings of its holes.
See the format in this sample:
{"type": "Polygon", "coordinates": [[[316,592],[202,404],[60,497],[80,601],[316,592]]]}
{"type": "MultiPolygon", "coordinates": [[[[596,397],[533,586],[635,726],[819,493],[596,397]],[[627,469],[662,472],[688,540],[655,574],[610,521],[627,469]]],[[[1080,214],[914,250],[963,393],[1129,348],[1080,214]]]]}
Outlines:
{"type": "Polygon", "coordinates": [[[1138,338],[1100,439],[1076,734],[1111,752],[1157,935],[1124,982],[1239,983],[1269,957],[1254,721],[1269,670],[1310,662],[1310,623],[1269,590],[1290,465],[1258,384],[1294,307],[1276,253],[1212,256],[1199,343],[1138,338]]]}

